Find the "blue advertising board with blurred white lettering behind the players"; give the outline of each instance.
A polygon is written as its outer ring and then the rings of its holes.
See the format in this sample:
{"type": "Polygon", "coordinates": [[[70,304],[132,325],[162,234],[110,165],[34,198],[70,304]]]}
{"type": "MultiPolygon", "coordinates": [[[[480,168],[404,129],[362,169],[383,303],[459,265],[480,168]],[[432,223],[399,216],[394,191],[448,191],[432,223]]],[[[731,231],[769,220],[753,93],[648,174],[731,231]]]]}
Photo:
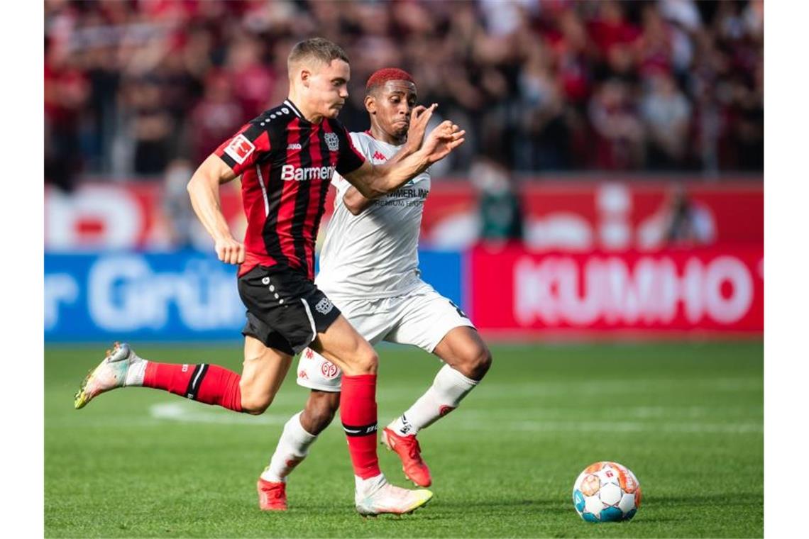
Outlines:
{"type": "MultiPolygon", "coordinates": [[[[460,305],[461,256],[423,251],[430,284],[460,305]]],[[[239,339],[235,266],[197,251],[44,257],[44,335],[56,342],[239,339]]]]}

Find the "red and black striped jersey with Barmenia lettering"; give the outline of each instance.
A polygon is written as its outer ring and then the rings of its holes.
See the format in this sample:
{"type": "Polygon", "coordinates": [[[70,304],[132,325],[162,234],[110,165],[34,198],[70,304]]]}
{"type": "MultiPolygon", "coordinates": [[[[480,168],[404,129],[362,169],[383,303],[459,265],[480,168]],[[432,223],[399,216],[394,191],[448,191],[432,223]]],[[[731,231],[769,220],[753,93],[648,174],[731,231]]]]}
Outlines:
{"type": "Polygon", "coordinates": [[[287,266],[315,278],[315,240],[334,171],[355,171],[365,158],[343,124],[325,118],[308,122],[286,99],[250,120],[216,149],[242,176],[248,219],[244,263],[287,266]]]}

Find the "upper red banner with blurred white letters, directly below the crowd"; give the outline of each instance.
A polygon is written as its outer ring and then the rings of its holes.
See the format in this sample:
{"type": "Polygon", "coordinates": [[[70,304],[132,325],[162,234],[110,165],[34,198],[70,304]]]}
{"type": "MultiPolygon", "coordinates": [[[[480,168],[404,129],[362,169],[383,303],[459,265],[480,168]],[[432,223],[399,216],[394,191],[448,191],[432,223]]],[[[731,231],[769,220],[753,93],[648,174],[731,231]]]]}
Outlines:
{"type": "MultiPolygon", "coordinates": [[[[666,243],[678,197],[688,203],[693,245],[764,242],[764,187],[756,181],[678,180],[592,182],[543,179],[520,183],[524,242],[558,251],[654,251],[666,243]]],[[[177,234],[209,242],[197,225],[184,188],[159,183],[87,183],[65,195],[45,189],[47,249],[163,249],[177,234]]],[[[324,231],[334,190],[326,202],[324,231]]],[[[239,183],[222,187],[222,213],[238,236],[244,231],[239,183]]],[[[436,179],[424,206],[421,246],[466,249],[477,242],[478,193],[468,181],[436,179]]]]}

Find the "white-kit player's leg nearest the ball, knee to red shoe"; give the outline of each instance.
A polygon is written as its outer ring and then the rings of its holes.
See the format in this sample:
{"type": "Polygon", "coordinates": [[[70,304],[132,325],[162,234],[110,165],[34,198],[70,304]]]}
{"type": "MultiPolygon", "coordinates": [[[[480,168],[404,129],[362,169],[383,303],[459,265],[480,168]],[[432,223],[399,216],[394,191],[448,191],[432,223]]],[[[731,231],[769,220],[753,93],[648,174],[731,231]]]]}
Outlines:
{"type": "Polygon", "coordinates": [[[430,486],[430,469],[421,458],[417,433],[458,407],[461,400],[485,376],[492,363],[491,352],[475,329],[455,327],[433,353],[444,363],[433,385],[413,406],[382,431],[382,443],[399,455],[402,470],[418,486],[430,486]]]}

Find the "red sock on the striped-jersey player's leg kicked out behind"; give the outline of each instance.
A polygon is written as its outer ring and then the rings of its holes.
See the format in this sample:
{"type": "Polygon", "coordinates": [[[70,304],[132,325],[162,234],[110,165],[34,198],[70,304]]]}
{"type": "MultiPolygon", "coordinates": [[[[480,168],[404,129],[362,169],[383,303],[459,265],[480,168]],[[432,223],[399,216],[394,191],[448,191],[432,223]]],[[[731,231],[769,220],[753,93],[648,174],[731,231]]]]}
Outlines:
{"type": "Polygon", "coordinates": [[[210,364],[146,364],[144,387],[154,387],[205,404],[218,404],[228,410],[242,411],[241,377],[227,368],[210,364]]]}

